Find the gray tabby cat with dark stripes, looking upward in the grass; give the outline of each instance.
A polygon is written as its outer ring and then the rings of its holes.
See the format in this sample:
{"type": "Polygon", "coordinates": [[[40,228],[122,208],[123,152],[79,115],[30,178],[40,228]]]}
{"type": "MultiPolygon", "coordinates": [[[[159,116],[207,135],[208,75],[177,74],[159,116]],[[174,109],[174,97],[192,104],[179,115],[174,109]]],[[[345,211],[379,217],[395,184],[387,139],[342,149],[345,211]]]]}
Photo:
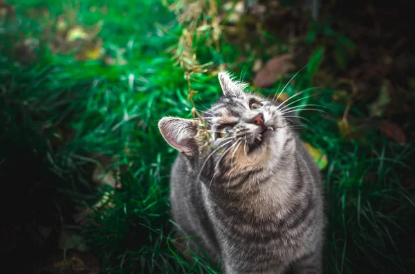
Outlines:
{"type": "Polygon", "coordinates": [[[322,273],[320,172],[288,122],[293,110],[227,72],[219,82],[223,96],[201,119],[158,123],[180,152],[170,201],[181,236],[196,237],[227,274],[322,273]]]}

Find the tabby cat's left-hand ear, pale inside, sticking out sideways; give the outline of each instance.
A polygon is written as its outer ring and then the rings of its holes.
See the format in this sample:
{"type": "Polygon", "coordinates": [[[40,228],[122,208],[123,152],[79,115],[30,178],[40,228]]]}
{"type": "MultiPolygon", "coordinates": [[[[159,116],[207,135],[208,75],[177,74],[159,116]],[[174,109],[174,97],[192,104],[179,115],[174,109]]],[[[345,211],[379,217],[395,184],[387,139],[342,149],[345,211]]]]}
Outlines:
{"type": "Polygon", "coordinates": [[[192,120],[164,117],[158,122],[158,129],[167,143],[184,155],[192,157],[198,152],[197,127],[192,120]]]}

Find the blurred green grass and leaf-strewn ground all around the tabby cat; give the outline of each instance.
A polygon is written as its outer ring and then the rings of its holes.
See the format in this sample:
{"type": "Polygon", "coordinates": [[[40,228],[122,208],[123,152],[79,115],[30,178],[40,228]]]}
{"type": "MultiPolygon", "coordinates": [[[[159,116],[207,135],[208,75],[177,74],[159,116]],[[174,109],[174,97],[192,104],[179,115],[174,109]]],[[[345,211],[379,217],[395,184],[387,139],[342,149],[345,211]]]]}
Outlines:
{"type": "Polygon", "coordinates": [[[15,269],[57,273],[71,250],[89,273],[219,273],[175,246],[176,151],[157,122],[197,117],[227,69],[293,103],[323,175],[326,273],[411,273],[404,4],[327,1],[313,21],[295,1],[24,2],[0,2],[1,254],[15,269]]]}

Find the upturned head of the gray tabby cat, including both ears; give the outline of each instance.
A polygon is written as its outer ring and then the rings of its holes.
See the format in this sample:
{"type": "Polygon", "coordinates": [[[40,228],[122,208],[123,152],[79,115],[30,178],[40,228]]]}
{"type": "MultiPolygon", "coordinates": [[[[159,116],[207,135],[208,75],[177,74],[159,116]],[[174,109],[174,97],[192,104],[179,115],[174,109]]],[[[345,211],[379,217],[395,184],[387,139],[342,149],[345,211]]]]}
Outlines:
{"type": "Polygon", "coordinates": [[[201,119],[164,117],[160,133],[170,146],[197,159],[199,168],[228,167],[238,173],[275,164],[293,135],[279,104],[244,91],[246,85],[228,72],[218,77],[223,95],[201,119]]]}

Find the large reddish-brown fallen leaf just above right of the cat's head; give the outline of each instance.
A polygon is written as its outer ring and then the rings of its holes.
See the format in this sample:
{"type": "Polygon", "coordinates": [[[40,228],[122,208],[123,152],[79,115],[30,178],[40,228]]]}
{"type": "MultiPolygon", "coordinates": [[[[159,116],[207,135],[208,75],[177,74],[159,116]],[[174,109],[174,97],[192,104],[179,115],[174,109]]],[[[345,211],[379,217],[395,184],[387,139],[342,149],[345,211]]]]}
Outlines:
{"type": "Polygon", "coordinates": [[[291,68],[294,68],[293,55],[273,57],[255,75],[254,84],[259,88],[269,88],[291,68]]]}

